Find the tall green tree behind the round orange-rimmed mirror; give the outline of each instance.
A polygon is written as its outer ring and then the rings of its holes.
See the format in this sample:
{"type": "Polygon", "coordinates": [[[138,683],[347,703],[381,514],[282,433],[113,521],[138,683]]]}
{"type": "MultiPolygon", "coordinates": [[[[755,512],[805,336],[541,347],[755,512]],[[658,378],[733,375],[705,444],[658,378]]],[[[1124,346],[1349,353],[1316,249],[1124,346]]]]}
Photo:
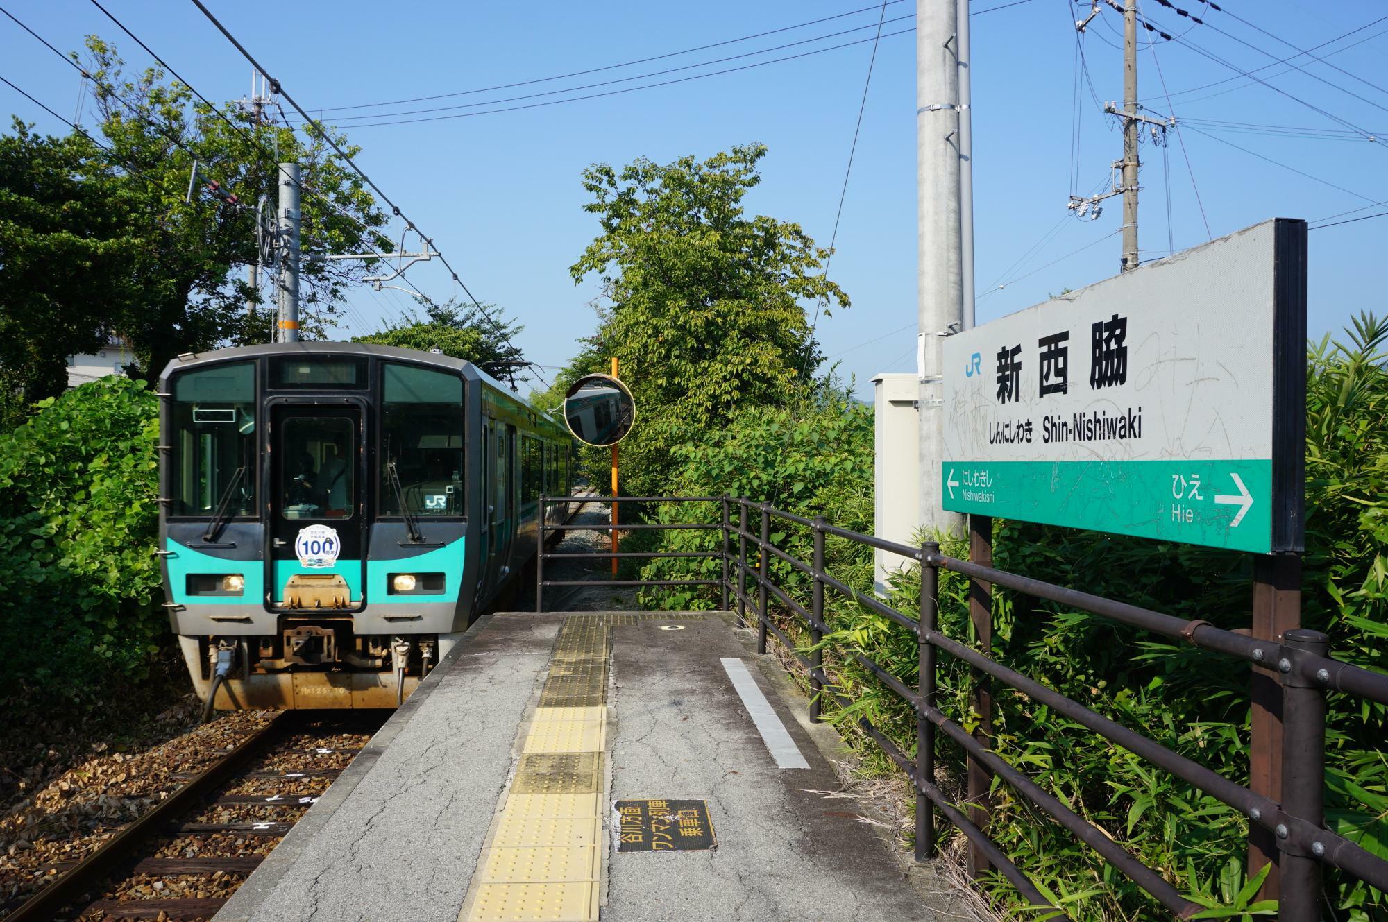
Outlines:
{"type": "Polygon", "coordinates": [[[762,144],[698,161],[637,160],[583,172],[584,210],[602,233],[569,272],[601,279],[598,329],[570,371],[604,372],[618,358],[636,396],[623,442],[626,483],[668,487],[672,450],[716,432],[738,408],[784,404],[822,355],[805,301],[848,307],[824,278],[829,250],[798,224],[748,217],[762,144]]]}

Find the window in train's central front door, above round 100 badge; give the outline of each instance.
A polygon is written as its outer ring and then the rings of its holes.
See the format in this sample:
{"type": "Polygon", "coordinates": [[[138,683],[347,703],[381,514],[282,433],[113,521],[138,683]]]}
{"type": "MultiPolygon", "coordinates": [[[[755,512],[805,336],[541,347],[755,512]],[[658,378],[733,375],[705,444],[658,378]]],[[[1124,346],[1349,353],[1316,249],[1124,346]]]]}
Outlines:
{"type": "Polygon", "coordinates": [[[351,518],[357,505],[357,444],[347,417],[290,417],[282,444],[280,515],[287,519],[351,518]]]}

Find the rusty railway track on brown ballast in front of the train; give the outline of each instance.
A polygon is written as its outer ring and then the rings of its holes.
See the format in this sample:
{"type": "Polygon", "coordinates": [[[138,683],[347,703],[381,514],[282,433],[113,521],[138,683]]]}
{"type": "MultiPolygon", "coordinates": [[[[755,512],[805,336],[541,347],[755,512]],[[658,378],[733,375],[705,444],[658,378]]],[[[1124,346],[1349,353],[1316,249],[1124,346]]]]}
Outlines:
{"type": "Polygon", "coordinates": [[[211,918],[386,716],[276,714],[0,918],[211,918]]]}

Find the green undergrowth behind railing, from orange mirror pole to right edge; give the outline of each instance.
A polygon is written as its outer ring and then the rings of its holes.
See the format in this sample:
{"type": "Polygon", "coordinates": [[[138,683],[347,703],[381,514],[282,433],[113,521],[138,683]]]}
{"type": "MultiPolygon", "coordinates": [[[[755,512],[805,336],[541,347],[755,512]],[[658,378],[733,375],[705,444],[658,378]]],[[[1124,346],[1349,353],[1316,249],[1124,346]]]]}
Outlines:
{"type": "MultiPolygon", "coordinates": [[[[1334,655],[1388,672],[1388,321],[1359,318],[1345,342],[1323,340],[1307,360],[1307,483],[1302,623],[1331,636],[1334,655]]],[[[872,532],[872,412],[829,394],[809,411],[738,414],[726,430],[677,450],[680,494],[723,492],[772,500],[783,510],[872,532]]],[[[665,521],[688,511],[661,510],[665,521]]],[[[702,521],[716,521],[705,511],[702,521]]],[[[694,521],[684,518],[683,521],[694,521]]],[[[754,530],[758,526],[754,518],[754,530]]],[[[650,535],[650,533],[645,533],[650,535]]],[[[662,550],[713,550],[716,532],[673,532],[662,550]]],[[[808,561],[805,529],[776,523],[777,546],[808,561]]],[[[829,568],[863,592],[872,589],[872,554],[863,546],[827,543],[829,568]]],[[[944,548],[955,557],[966,548],[944,548]]],[[[995,522],[999,568],[1077,586],[1184,618],[1246,628],[1252,603],[1252,558],[1187,544],[995,522]]],[[[716,561],[657,561],[650,578],[716,575],[716,561]]],[[[809,580],[773,561],[779,586],[802,604],[809,580]]],[[[892,579],[892,604],[919,610],[919,568],[892,579]]],[[[711,592],[651,593],[648,604],[709,607],[711,592]]],[[[940,626],[974,643],[967,618],[967,580],[940,573],[940,626]]],[[[1138,729],[1169,748],[1238,783],[1248,783],[1249,673],[1227,658],[1153,637],[1065,605],[995,590],[994,657],[1042,685],[1138,729]]],[[[787,612],[776,615],[793,640],[808,644],[787,612]]],[[[854,700],[826,705],[869,766],[891,771],[856,729],[867,716],[908,753],[915,733],[911,708],[851,658],[859,651],[902,682],[916,682],[916,640],[891,621],[836,593],[826,594],[834,629],[826,667],[854,700]]],[[[937,704],[967,729],[973,678],[952,657],[938,657],[937,704]]],[[[1248,822],[1237,811],[1138,760],[1122,747],[1049,708],[992,683],[998,751],[1081,816],[1101,826],[1144,864],[1156,868],[1196,903],[1226,905],[1248,896],[1244,873],[1248,822]]],[[[1327,730],[1327,822],[1341,835],[1388,857],[1388,760],[1381,740],[1388,708],[1331,696],[1327,730]]],[[[958,779],[963,753],[937,735],[940,762],[958,779]]],[[[949,785],[947,782],[947,790],[949,785]]],[[[1047,815],[998,783],[988,832],[1041,886],[1067,900],[1074,919],[1163,918],[1137,885],[1108,866],[1047,815]]],[[[1017,911],[1016,891],[1001,876],[985,880],[999,907],[1017,911]]],[[[1382,894],[1328,873],[1339,918],[1388,919],[1382,894]]]]}

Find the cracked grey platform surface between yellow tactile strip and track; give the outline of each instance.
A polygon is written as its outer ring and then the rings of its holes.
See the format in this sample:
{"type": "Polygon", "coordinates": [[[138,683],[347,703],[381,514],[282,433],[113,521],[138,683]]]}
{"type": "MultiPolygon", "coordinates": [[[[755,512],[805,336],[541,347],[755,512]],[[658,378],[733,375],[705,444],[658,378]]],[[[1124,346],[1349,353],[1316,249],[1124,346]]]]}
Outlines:
{"type": "MultiPolygon", "coordinates": [[[[258,905],[246,912],[228,903],[218,919],[458,918],[559,619],[498,617],[479,628],[452,662],[439,667],[447,672],[428,697],[391,718],[387,729],[405,719],[390,744],[372,762],[358,757],[353,764],[365,773],[340,803],[323,804],[326,822],[296,843],[293,864],[255,897],[258,905]]],[[[289,837],[280,848],[287,844],[289,837]]]]}

